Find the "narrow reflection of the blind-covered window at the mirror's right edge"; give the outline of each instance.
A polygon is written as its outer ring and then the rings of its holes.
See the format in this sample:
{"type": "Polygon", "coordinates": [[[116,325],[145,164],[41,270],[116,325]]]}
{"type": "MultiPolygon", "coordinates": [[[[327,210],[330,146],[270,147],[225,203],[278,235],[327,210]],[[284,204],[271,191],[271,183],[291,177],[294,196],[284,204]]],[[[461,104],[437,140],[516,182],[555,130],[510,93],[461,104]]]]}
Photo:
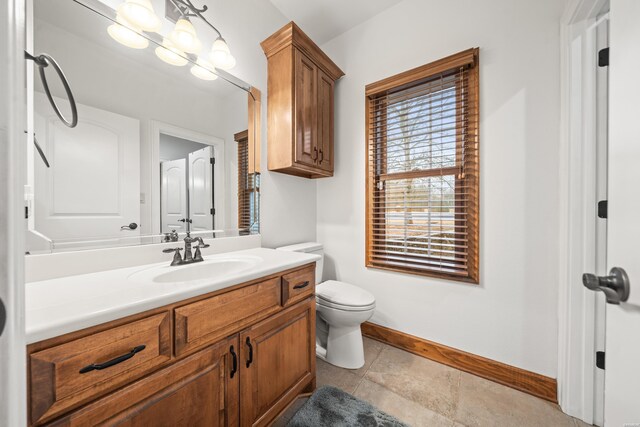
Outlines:
{"type": "Polygon", "coordinates": [[[238,229],[241,234],[257,233],[260,174],[249,173],[248,131],[238,132],[234,139],[238,143],[238,229]]]}

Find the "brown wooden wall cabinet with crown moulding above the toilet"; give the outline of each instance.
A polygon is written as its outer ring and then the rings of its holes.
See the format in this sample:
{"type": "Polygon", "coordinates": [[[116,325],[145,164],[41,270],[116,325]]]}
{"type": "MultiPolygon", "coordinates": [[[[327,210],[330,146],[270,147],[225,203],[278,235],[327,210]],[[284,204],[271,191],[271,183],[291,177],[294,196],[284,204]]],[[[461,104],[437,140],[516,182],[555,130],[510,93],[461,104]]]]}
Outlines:
{"type": "Polygon", "coordinates": [[[342,70],[293,22],[261,43],[268,61],[268,168],[333,176],[333,91],[342,70]]]}

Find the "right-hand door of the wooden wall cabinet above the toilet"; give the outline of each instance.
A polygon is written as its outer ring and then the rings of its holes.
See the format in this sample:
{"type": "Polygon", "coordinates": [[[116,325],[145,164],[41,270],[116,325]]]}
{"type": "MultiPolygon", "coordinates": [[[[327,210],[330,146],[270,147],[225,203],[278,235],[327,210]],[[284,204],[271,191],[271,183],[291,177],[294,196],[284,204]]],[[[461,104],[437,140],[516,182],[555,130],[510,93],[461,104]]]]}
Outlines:
{"type": "Polygon", "coordinates": [[[318,166],[333,172],[333,80],[318,68],[318,166]]]}

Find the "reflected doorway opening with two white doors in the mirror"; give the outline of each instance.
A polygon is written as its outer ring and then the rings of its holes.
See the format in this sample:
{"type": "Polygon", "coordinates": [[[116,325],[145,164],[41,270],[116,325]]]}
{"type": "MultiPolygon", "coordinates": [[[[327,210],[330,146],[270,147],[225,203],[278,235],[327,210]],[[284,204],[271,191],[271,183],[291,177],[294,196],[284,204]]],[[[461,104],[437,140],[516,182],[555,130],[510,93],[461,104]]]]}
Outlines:
{"type": "Polygon", "coordinates": [[[160,134],[161,231],[214,229],[213,147],[160,134]]]}

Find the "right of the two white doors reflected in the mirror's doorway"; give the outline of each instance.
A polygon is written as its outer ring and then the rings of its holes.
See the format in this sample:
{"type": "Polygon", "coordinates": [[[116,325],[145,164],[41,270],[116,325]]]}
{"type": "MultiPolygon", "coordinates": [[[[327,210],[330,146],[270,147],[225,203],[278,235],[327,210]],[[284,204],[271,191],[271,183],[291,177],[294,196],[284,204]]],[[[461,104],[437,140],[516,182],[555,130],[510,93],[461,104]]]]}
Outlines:
{"type": "Polygon", "coordinates": [[[189,218],[191,230],[214,229],[213,147],[189,153],[189,218]]]}

